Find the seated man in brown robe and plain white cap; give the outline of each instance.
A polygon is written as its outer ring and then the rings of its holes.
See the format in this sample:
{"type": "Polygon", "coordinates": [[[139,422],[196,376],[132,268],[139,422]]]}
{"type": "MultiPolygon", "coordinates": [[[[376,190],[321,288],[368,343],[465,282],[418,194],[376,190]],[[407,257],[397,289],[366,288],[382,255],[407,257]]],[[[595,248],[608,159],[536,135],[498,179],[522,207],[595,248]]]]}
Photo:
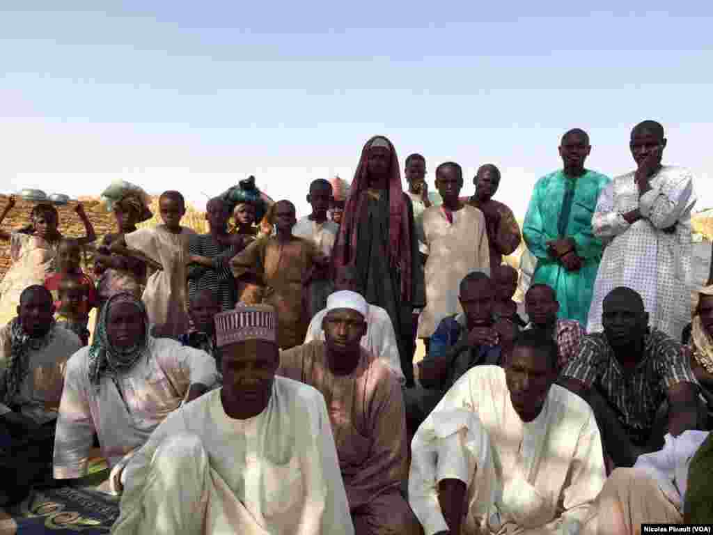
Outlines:
{"type": "Polygon", "coordinates": [[[310,384],[327,399],[356,533],[419,534],[421,526],[400,493],[409,447],[401,387],[359,345],[368,306],[356,292],[329,295],[322,324],[326,342],[282,352],[277,374],[310,384]]]}

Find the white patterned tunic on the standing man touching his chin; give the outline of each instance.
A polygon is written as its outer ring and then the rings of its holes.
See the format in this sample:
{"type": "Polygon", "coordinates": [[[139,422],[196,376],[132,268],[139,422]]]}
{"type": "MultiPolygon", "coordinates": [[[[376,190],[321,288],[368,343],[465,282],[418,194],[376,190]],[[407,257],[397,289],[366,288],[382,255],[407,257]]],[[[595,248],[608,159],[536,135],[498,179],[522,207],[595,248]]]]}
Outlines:
{"type": "Polygon", "coordinates": [[[615,287],[636,290],[649,325],[675,340],[691,321],[691,210],[693,175],[665,165],[639,198],[635,172],[615,178],[600,194],[593,233],[605,241],[597,272],[587,332],[602,331],[602,302],[615,287]],[[639,208],[643,219],[630,225],[623,214],[639,208]],[[676,225],[672,234],[662,229],[676,225]]]}

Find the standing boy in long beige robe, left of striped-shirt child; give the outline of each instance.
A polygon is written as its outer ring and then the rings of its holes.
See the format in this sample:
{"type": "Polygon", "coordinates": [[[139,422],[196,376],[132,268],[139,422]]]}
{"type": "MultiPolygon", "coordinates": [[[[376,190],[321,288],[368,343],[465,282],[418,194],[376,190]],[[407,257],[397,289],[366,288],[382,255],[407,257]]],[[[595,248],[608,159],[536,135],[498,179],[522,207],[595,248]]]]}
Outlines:
{"type": "Polygon", "coordinates": [[[161,193],[158,205],[163,225],[120,235],[109,249],[128,256],[138,252],[161,266],[162,269],[148,278],[142,300],[149,322],[168,328],[163,332],[165,336],[178,338],[188,330],[190,323],[186,306],[186,264],[190,255],[188,243],[195,232],[180,225],[185,215],[185,200],[178,191],[161,193]]]}

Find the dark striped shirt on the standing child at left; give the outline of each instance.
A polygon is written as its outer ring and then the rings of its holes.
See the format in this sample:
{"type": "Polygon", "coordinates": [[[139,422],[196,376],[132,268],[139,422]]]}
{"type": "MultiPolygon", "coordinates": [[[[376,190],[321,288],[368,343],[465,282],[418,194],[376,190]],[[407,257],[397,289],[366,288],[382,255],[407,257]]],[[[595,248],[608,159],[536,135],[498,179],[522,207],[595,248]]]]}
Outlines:
{"type": "Polygon", "coordinates": [[[210,290],[217,295],[221,310],[235,308],[235,281],[228,263],[237,254],[237,249],[217,243],[210,234],[195,235],[190,238],[188,251],[213,259],[212,267],[191,264],[188,266],[188,298],[200,290],[210,290]]]}

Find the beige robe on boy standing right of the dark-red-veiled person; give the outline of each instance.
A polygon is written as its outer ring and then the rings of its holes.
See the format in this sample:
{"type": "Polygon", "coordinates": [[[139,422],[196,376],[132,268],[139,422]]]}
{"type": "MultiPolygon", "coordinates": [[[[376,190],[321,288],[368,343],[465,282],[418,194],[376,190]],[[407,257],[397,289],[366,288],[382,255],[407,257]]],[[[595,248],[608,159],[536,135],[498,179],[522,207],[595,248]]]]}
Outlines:
{"type": "Polygon", "coordinates": [[[471,271],[490,275],[490,248],[486,220],[481,210],[464,205],[448,223],[442,206],[424,212],[426,308],[419,317],[419,338],[429,338],[444,317],[462,312],[458,287],[471,271]]]}

